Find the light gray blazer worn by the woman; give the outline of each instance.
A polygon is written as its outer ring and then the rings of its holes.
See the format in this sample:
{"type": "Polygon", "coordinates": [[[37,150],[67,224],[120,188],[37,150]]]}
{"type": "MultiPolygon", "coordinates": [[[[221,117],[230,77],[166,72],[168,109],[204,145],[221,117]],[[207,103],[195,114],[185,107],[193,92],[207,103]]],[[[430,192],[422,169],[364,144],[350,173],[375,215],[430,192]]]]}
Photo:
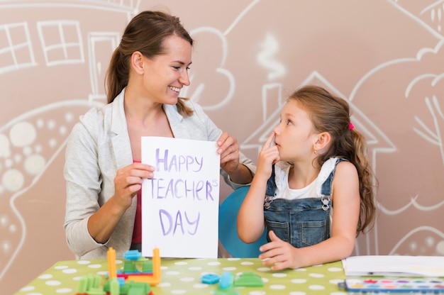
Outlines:
{"type": "MultiPolygon", "coordinates": [[[[63,170],[67,190],[64,227],[67,244],[77,259],[105,259],[109,247],[116,250],[116,257],[122,257],[131,246],[137,197],[105,244],[96,243],[87,229],[89,216],[113,196],[117,170],[133,163],[124,94],[125,89],[111,104],[81,116],[68,139],[63,170]]],[[[174,137],[216,141],[222,131],[198,104],[187,101],[187,105],[194,110],[187,118],[176,106],[163,106],[174,137]]],[[[255,165],[245,155],[240,155],[240,162],[255,173],[255,165]]],[[[222,169],[221,174],[233,189],[242,186],[231,182],[222,169]]]]}

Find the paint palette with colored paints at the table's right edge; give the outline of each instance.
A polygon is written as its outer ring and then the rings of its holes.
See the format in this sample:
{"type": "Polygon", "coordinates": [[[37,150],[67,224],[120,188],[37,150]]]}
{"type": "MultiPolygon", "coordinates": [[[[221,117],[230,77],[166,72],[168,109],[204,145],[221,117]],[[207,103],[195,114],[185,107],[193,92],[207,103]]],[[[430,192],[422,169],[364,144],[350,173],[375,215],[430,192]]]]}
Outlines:
{"type": "Polygon", "coordinates": [[[444,279],[432,278],[382,278],[382,279],[345,279],[339,284],[341,289],[362,293],[433,293],[444,294],[444,279]]]}

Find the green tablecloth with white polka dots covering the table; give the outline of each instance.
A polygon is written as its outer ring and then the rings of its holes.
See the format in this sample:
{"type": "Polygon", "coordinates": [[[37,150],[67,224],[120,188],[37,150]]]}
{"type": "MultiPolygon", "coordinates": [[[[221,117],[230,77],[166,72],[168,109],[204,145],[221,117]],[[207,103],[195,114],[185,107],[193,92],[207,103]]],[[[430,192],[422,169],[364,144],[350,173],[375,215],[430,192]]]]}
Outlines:
{"type": "MultiPolygon", "coordinates": [[[[116,260],[116,269],[123,269],[123,260],[116,260]]],[[[347,292],[338,288],[345,274],[342,262],[285,269],[273,272],[256,258],[219,259],[162,259],[162,279],[152,286],[154,295],[162,294],[213,294],[217,284],[203,284],[204,274],[232,272],[235,276],[242,272],[254,272],[262,278],[262,287],[236,287],[239,294],[269,295],[344,295],[347,292]]],[[[23,286],[16,295],[76,294],[79,279],[88,274],[99,274],[106,280],[108,264],[106,260],[60,261],[40,274],[32,282],[23,286]]]]}

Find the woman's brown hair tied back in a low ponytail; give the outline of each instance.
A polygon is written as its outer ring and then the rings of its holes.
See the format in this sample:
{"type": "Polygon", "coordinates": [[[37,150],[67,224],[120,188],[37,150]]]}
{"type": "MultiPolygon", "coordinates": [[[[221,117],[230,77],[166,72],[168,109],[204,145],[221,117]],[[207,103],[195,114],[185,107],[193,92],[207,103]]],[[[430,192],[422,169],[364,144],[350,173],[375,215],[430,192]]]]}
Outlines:
{"type": "MultiPolygon", "coordinates": [[[[111,56],[106,72],[106,93],[108,103],[126,87],[129,79],[130,61],[133,52],[139,51],[147,58],[164,55],[164,40],[172,35],[187,40],[193,45],[193,39],[182,26],[179,18],[161,11],[142,11],[126,26],[121,43],[111,56]]],[[[177,101],[177,109],[182,115],[191,115],[192,109],[184,104],[184,98],[177,101]]]]}

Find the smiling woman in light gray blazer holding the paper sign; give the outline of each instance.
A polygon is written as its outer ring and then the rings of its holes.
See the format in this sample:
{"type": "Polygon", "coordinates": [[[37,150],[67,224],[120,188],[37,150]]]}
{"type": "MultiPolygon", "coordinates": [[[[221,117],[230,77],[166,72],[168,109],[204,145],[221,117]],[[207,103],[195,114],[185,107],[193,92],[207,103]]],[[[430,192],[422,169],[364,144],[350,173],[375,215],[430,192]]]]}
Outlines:
{"type": "Polygon", "coordinates": [[[179,97],[189,85],[192,45],[167,13],[143,11],[128,23],[106,75],[109,104],[82,116],[67,144],[65,231],[78,258],[106,258],[109,247],[118,257],[140,249],[140,188],[155,174],[140,163],[142,136],[217,141],[226,182],[251,182],[255,167],[235,138],[179,97]]]}

